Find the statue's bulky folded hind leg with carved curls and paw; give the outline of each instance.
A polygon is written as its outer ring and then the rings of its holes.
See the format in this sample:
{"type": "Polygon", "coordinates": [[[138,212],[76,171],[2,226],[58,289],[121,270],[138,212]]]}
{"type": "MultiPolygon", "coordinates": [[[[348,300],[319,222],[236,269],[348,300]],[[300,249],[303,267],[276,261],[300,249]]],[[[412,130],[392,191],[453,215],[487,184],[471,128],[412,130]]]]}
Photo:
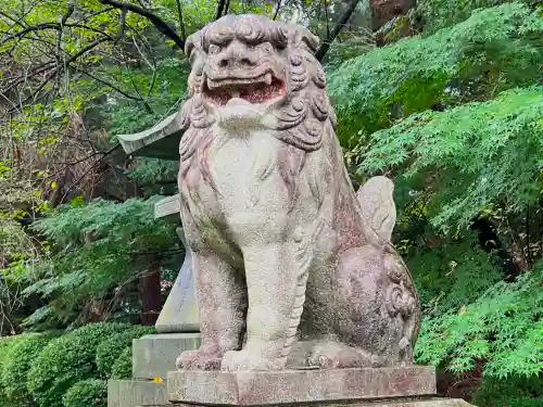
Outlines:
{"type": "MultiPolygon", "coordinates": [[[[406,288],[397,255],[372,245],[354,247],[337,259],[331,321],[337,341],[317,341],[308,365],[321,368],[379,367],[413,364],[414,327],[419,314],[406,288]]],[[[331,295],[331,294],[330,294],[331,295]]]]}

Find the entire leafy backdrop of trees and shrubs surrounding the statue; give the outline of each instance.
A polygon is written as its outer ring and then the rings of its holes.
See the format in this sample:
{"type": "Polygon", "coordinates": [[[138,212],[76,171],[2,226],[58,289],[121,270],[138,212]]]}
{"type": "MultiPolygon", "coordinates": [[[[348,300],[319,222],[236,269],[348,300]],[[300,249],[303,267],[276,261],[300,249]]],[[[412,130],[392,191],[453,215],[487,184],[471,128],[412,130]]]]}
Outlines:
{"type": "Polygon", "coordinates": [[[394,181],[440,394],[543,406],[543,8],[500,0],[0,0],[0,406],[105,406],[130,376],[185,249],[152,212],[177,164],[117,135],[179,107],[180,46],[227,12],[331,43],[345,163],[394,181]]]}

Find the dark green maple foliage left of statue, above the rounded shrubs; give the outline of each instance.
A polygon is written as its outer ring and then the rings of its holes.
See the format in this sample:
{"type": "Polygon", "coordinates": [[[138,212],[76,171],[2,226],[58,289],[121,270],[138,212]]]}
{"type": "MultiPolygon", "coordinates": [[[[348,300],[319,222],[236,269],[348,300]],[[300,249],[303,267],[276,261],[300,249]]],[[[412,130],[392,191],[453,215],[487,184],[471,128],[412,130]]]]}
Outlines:
{"type": "Polygon", "coordinates": [[[175,249],[175,226],[153,217],[159,199],[62,205],[39,220],[35,228],[53,242],[52,267],[25,293],[54,302],[39,308],[25,326],[71,320],[81,304],[101,301],[110,290],[135,280],[161,251],[175,249]]]}

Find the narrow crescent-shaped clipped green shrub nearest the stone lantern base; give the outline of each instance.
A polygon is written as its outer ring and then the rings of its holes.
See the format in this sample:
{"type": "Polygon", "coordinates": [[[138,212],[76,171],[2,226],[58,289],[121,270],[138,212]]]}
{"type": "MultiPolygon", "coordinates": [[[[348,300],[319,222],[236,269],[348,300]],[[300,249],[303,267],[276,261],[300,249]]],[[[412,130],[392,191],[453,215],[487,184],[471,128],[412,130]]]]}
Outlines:
{"type": "Polygon", "coordinates": [[[97,348],[97,368],[100,377],[109,379],[115,361],[132,340],[149,333],[154,333],[153,327],[136,326],[125,332],[119,332],[103,341],[97,348]]]}

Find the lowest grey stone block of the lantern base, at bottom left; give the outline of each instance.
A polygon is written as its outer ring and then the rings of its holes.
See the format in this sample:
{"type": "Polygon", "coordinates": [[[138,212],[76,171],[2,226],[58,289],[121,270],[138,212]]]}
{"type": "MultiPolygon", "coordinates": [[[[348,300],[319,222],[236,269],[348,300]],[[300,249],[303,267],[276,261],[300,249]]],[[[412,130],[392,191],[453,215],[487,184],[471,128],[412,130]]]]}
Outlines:
{"type": "Polygon", "coordinates": [[[108,407],[163,405],[169,405],[166,382],[153,382],[150,380],[108,381],[108,407]]]}

